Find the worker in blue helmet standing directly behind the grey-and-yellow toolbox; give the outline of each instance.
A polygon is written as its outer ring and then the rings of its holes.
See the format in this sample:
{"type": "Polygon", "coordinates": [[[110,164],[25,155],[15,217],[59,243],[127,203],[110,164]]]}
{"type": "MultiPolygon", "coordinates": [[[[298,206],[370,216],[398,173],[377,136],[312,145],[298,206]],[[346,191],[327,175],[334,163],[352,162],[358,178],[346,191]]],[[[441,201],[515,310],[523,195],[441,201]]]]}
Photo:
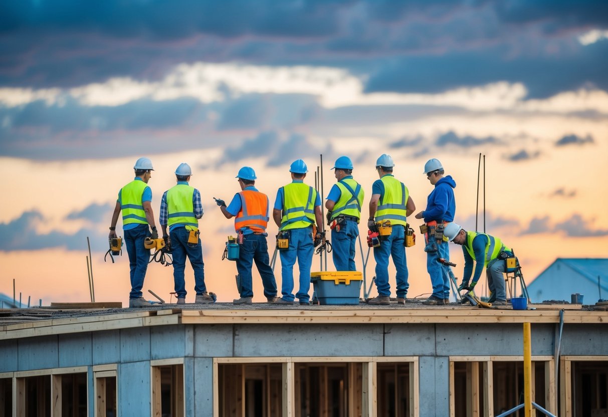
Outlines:
{"type": "Polygon", "coordinates": [[[356,271],[354,245],[359,236],[359,219],[364,192],[353,179],[353,162],[340,156],[331,168],[338,182],[331,187],[325,207],[328,211],[333,259],[336,271],[356,271]]]}

